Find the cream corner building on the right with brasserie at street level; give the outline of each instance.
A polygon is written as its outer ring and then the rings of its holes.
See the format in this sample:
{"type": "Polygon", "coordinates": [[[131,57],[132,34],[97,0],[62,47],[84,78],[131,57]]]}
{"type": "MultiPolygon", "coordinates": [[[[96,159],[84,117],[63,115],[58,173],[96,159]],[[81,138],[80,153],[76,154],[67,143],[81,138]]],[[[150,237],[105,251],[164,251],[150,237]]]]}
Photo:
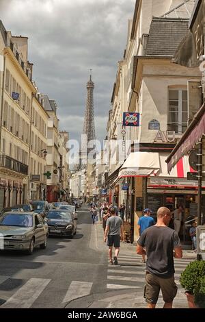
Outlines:
{"type": "Polygon", "coordinates": [[[128,23],[107,128],[109,140],[121,139],[126,144],[130,140],[126,151],[131,153],[125,162],[121,158],[115,164],[109,156],[107,184],[112,201],[126,199],[134,240],[143,208],[156,214],[159,206],[174,210],[182,203],[186,218],[197,204],[197,184],[187,180],[187,171],[191,171],[187,158],[170,174],[165,163],[192,114],[187,84],[189,87],[202,77],[199,69],[190,73],[172,62],[187,36],[193,5],[194,1],[136,1],[133,21],[128,23]],[[122,127],[123,112],[139,113],[139,126],[122,127]]]}

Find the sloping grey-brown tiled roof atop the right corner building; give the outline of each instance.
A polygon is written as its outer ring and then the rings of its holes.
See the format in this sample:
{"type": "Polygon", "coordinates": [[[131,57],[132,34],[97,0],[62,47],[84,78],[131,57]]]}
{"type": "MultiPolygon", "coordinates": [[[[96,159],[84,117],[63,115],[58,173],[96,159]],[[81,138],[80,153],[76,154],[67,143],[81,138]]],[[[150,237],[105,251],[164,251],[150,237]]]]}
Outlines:
{"type": "Polygon", "coordinates": [[[146,55],[174,56],[187,36],[189,20],[181,18],[152,18],[146,55]]]}

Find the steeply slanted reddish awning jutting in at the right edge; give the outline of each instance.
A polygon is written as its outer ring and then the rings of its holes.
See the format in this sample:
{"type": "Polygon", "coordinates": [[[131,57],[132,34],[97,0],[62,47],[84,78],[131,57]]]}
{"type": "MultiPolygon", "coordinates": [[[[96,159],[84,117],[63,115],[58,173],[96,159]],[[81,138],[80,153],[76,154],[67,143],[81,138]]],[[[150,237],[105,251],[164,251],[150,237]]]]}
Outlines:
{"type": "Polygon", "coordinates": [[[200,142],[205,134],[205,103],[200,108],[199,112],[195,114],[195,117],[187,131],[184,132],[182,138],[167,158],[167,169],[170,172],[177,162],[195,147],[200,142]]]}

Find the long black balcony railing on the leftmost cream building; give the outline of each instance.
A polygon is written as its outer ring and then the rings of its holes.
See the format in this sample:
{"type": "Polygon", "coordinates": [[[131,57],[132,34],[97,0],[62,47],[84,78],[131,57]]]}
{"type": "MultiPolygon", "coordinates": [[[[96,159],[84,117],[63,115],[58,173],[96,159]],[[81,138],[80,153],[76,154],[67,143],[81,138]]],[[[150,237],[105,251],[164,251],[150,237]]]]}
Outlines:
{"type": "Polygon", "coordinates": [[[0,166],[12,171],[28,175],[28,166],[17,160],[10,158],[10,156],[0,155],[0,166]]]}

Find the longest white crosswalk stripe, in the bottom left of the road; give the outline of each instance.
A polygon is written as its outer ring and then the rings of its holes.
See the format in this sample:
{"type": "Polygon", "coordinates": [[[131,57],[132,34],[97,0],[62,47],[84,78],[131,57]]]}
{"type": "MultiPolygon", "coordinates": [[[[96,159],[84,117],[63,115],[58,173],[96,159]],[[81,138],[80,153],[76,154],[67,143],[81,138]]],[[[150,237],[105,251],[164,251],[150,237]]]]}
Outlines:
{"type": "Polygon", "coordinates": [[[1,308],[30,308],[49,282],[49,279],[30,278],[1,308]]]}

